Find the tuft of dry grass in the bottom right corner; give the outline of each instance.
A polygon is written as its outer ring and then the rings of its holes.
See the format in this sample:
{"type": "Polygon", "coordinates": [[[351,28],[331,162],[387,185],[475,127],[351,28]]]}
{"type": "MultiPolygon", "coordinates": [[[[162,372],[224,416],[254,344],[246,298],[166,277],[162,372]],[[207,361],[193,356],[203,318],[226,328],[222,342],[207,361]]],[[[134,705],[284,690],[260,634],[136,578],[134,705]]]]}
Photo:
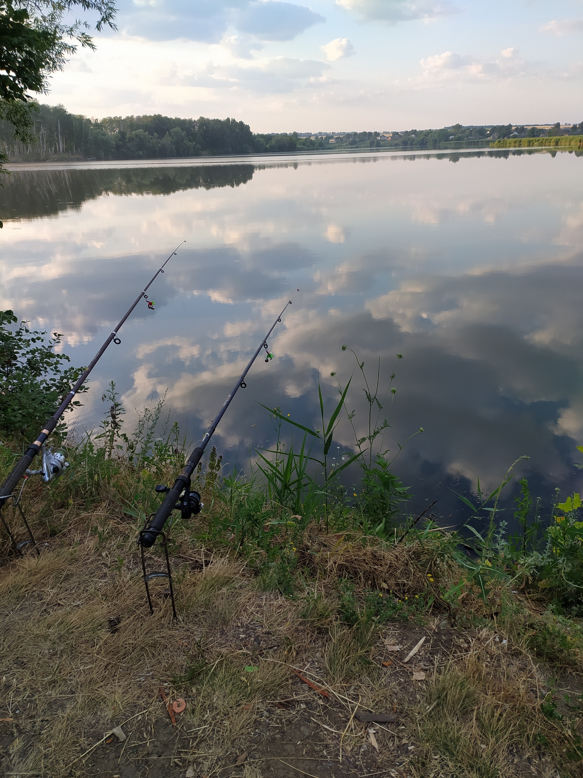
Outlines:
{"type": "Polygon", "coordinates": [[[581,762],[564,756],[564,728],[543,717],[543,686],[520,647],[482,633],[461,661],[435,668],[411,711],[414,776],[522,776],[525,765],[540,776],[580,775],[581,762]]]}

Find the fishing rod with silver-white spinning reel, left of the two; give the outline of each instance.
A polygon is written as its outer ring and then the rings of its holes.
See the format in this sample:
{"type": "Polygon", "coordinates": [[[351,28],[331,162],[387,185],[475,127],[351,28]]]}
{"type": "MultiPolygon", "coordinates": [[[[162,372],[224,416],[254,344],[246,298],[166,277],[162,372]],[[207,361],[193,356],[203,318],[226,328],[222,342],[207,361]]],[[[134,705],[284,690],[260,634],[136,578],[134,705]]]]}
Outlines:
{"type": "MultiPolygon", "coordinates": [[[[110,345],[110,342],[113,341],[116,344],[120,344],[121,340],[120,338],[117,337],[117,332],[119,331],[121,325],[124,324],[124,321],[126,321],[127,317],[131,314],[132,310],[134,310],[134,308],[138,305],[138,303],[142,298],[145,297],[145,299],[148,300],[148,295],[146,294],[146,290],[148,289],[149,286],[152,286],[152,283],[155,281],[157,276],[160,273],[164,272],[165,265],[167,265],[169,260],[176,255],[176,251],[178,251],[178,249],[180,248],[180,246],[182,246],[183,243],[186,243],[186,240],[181,241],[180,244],[176,246],[172,254],[169,255],[169,258],[166,259],[166,262],[164,262],[162,267],[159,268],[154,275],[152,275],[152,279],[150,279],[150,281],[146,284],[144,289],[142,289],[142,291],[138,294],[138,296],[134,300],[134,303],[131,305],[130,308],[127,309],[126,313],[124,314],[124,317],[122,317],[119,323],[117,324],[117,327],[113,329],[109,337],[106,339],[106,342],[103,343],[102,347],[96,353],[96,356],[94,356],[91,363],[89,363],[89,366],[86,367],[86,370],[76,381],[75,386],[72,387],[72,390],[68,393],[67,397],[65,397],[65,399],[61,402],[61,405],[59,405],[57,410],[51,416],[51,419],[48,420],[46,426],[44,427],[44,429],[42,429],[40,435],[37,437],[37,440],[35,440],[34,443],[30,444],[25,454],[23,454],[23,456],[20,457],[19,461],[12,468],[12,471],[10,471],[8,478],[6,478],[5,482],[2,484],[2,486],[0,486],[0,510],[2,510],[3,506],[5,506],[5,503],[10,497],[14,497],[13,494],[14,489],[16,488],[16,485],[18,484],[20,478],[23,477],[23,475],[42,474],[43,481],[46,483],[51,481],[52,478],[58,478],[58,476],[65,471],[65,468],[67,467],[67,463],[65,462],[65,452],[62,450],[57,450],[54,452],[51,449],[47,450],[47,448],[44,445],[45,440],[47,440],[47,437],[53,432],[54,428],[58,425],[59,419],[61,419],[61,416],[67,409],[68,405],[70,405],[73,398],[75,398],[75,394],[77,394],[79,389],[82,387],[82,385],[86,381],[86,378],[89,376],[89,373],[91,373],[93,368],[99,362],[99,359],[101,359],[101,357],[103,356],[103,352],[105,352],[107,346],[110,345]],[[40,470],[30,471],[28,468],[30,467],[30,464],[32,463],[34,457],[37,456],[40,450],[42,450],[43,452],[42,467],[40,468],[40,470]]],[[[152,299],[148,301],[148,308],[153,309],[153,307],[154,307],[154,300],[152,299]]],[[[18,498],[16,498],[16,502],[17,501],[18,498]]],[[[3,519],[2,522],[4,523],[3,519]]],[[[30,534],[30,530],[29,530],[29,534],[30,534]]]]}

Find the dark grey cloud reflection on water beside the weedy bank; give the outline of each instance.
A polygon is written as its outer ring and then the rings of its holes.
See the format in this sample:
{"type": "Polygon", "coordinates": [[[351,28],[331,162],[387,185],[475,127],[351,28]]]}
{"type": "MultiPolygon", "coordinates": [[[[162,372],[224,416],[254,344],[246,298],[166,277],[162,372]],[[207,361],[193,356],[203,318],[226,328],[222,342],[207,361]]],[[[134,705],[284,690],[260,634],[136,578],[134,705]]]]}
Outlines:
{"type": "MultiPolygon", "coordinates": [[[[540,344],[532,335],[552,316],[557,296],[567,299],[574,294],[571,290],[580,288],[582,273],[578,265],[569,265],[542,267],[527,275],[429,277],[403,282],[402,289],[369,300],[368,310],[340,317],[330,316],[323,307],[318,310],[317,296],[308,295],[298,300],[274,336],[274,363],[260,361],[253,367],[251,391],[237,398],[220,436],[232,447],[251,445],[252,416],[268,433],[267,419],[254,407],[255,400],[293,410],[295,419],[317,427],[318,380],[330,408],[337,400],[330,372],[337,371],[343,382],[354,372],[353,358],[340,350],[347,343],[369,370],[375,370],[381,356],[385,382],[396,352],[404,355],[396,367],[396,405],[386,447],[396,450],[396,442],[402,443],[419,426],[425,432],[400,456],[403,477],[414,479],[425,468],[434,478],[446,480],[463,471],[474,484],[479,477],[491,489],[522,454],[543,461],[553,478],[565,477],[571,457],[565,459],[557,436],[581,431],[581,338],[540,344]],[[427,319],[421,316],[424,312],[427,319]]],[[[569,317],[563,324],[583,331],[569,317]]],[[[246,321],[225,325],[225,341],[219,349],[201,350],[197,370],[160,378],[159,366],[141,366],[134,373],[131,396],[169,387],[174,408],[210,419],[245,364],[245,357],[233,356],[249,351],[246,328],[246,321]]],[[[358,433],[364,434],[358,373],[353,384],[349,409],[356,409],[358,433]]],[[[575,442],[580,441],[573,441],[573,450],[575,442]]],[[[354,447],[345,420],[337,443],[354,447]]],[[[518,472],[529,467],[523,463],[518,472]]]]}

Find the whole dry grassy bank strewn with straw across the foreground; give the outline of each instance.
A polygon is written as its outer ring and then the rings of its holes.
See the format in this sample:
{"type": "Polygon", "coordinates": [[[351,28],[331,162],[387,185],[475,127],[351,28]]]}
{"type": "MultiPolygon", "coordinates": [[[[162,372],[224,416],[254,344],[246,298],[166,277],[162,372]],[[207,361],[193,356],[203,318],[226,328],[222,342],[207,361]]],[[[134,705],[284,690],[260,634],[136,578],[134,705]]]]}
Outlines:
{"type": "MultiPolygon", "coordinates": [[[[428,545],[386,549],[314,532],[299,549],[312,552],[313,589],[292,601],[261,591],[242,559],[213,555],[177,532],[173,569],[180,619],[174,622],[164,584],[155,591],[154,615],[148,615],[135,527],[114,503],[106,500],[86,513],[61,507],[51,522],[63,529],[57,536],[47,530],[42,537],[48,545],[39,557],[29,553],[0,567],[0,702],[3,715],[14,719],[0,732],[4,773],[93,778],[145,774],[137,767],[145,766],[150,776],[162,778],[183,776],[193,766],[196,776],[209,778],[271,776],[267,746],[257,745],[258,727],[269,724],[276,733],[288,732],[292,745],[304,737],[302,727],[312,727],[314,762],[301,769],[322,778],[330,769],[320,769],[316,755],[338,759],[340,742],[354,775],[581,774],[581,763],[565,754],[564,727],[541,713],[546,671],[526,646],[525,617],[508,624],[494,619],[481,632],[452,629],[439,597],[459,570],[439,562],[428,545]],[[349,627],[337,599],[337,581],[346,577],[357,588],[385,584],[401,598],[431,591],[433,612],[424,624],[349,627]],[[403,664],[421,636],[424,647],[411,666],[403,664]],[[387,643],[403,648],[386,653],[387,643]],[[392,664],[383,667],[383,661],[392,664]],[[329,697],[301,682],[291,665],[329,697]],[[426,680],[413,682],[420,669],[426,680]],[[160,686],[169,699],[187,700],[176,732],[160,686]],[[292,700],[292,708],[274,709],[277,700],[292,700]],[[375,729],[379,752],[368,727],[354,720],[357,709],[399,713],[397,724],[375,729]],[[85,754],[125,721],[125,745],[114,754],[105,745],[85,754]],[[252,747],[265,762],[222,772],[252,747]],[[163,769],[154,769],[162,751],[163,769]],[[129,772],[119,773],[124,765],[129,772]]],[[[42,526],[39,519],[35,527],[42,526]]],[[[152,564],[158,565],[155,558],[152,564]]],[[[463,608],[466,614],[486,612],[474,592],[463,608]]],[[[300,775],[281,769],[278,775],[285,778],[300,775]]]]}

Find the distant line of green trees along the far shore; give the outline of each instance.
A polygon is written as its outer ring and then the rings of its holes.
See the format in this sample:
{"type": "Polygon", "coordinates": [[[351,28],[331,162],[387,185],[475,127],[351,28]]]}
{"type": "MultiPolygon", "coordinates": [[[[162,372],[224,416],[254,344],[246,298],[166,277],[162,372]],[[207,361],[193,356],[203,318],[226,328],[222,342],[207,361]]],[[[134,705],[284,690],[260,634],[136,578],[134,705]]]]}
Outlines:
{"type": "Polygon", "coordinates": [[[33,115],[33,135],[28,142],[18,135],[15,137],[9,121],[0,121],[0,153],[9,159],[50,159],[64,155],[86,159],[169,159],[319,149],[439,149],[452,142],[472,145],[503,138],[583,134],[583,122],[563,129],[557,122],[548,131],[512,124],[492,127],[453,124],[438,130],[393,132],[390,138],[377,131],[302,137],[297,132],[255,134],[248,124],[231,118],[180,119],[154,114],[108,116],[98,120],[71,114],[62,105],[37,105],[33,115]]]}

